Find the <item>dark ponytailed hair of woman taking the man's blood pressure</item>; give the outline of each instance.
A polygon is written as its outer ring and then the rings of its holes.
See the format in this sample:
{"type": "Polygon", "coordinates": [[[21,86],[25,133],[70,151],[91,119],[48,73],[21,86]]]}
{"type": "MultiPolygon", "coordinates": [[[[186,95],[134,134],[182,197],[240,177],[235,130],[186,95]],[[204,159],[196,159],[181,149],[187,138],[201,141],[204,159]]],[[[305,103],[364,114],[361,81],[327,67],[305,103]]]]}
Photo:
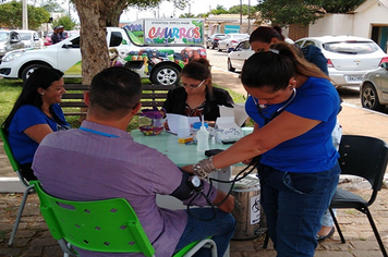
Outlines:
{"type": "Polygon", "coordinates": [[[293,46],[278,42],[267,52],[250,57],[241,72],[241,82],[251,88],[286,89],[291,77],[298,75],[330,79],[317,66],[300,57],[293,46]]]}

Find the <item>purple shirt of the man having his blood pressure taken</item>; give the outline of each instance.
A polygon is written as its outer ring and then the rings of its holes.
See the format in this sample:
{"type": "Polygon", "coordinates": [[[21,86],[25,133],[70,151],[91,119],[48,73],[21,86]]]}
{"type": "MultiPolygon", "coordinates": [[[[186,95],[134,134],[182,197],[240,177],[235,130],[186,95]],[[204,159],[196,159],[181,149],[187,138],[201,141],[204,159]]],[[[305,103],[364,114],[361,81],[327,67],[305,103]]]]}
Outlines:
{"type": "MultiPolygon", "coordinates": [[[[172,256],[187,216],[184,210],[159,208],[156,194],[169,195],[177,189],[182,180],[181,171],[156,149],[135,143],[125,131],[88,121],[84,121],[82,127],[95,132],[56,132],[40,143],[33,170],[45,191],[68,200],[128,199],[149,241],[154,242],[156,256],[172,256]]],[[[205,183],[205,192],[208,189],[205,183]]],[[[213,187],[210,200],[215,197],[216,188],[213,187]]],[[[207,205],[203,197],[197,197],[194,204],[207,205]]],[[[106,253],[78,253],[81,256],[107,256],[106,253]]]]}

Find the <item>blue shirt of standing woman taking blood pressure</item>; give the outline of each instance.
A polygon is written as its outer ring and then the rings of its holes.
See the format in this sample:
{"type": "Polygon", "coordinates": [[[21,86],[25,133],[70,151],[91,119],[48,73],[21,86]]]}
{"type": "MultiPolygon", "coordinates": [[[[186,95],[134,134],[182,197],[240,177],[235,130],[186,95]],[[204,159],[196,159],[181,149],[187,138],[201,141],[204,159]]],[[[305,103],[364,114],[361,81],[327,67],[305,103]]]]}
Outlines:
{"type": "MultiPolygon", "coordinates": [[[[262,114],[270,118],[286,102],[268,106],[262,114]]],[[[294,99],[284,111],[320,123],[305,134],[263,154],[260,162],[280,171],[299,173],[331,169],[339,158],[331,139],[339,107],[340,98],[332,84],[325,78],[310,77],[296,89],[294,99]]],[[[260,127],[264,126],[265,120],[259,115],[252,96],[247,99],[245,109],[260,127]]]]}

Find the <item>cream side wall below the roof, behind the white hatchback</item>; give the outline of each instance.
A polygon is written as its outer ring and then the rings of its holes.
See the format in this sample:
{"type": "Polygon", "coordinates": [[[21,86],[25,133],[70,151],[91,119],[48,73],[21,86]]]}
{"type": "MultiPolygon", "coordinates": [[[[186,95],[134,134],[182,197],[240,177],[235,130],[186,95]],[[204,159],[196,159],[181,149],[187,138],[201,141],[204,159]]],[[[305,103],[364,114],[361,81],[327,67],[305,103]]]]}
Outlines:
{"type": "Polygon", "coordinates": [[[315,24],[308,27],[310,37],[352,35],[352,14],[326,14],[323,19],[319,19],[315,24]]]}

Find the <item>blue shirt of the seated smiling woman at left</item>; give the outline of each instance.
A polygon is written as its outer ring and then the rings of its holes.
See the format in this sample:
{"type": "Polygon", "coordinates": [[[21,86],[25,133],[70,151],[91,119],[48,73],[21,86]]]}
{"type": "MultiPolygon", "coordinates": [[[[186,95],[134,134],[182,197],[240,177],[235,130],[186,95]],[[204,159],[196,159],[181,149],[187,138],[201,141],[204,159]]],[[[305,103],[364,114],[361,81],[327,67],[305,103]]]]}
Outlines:
{"type": "Polygon", "coordinates": [[[34,154],[39,145],[24,133],[26,128],[37,124],[48,124],[54,132],[70,128],[61,107],[58,103],[54,103],[51,107],[56,115],[59,118],[58,123],[35,106],[25,105],[17,109],[8,128],[8,139],[13,156],[19,163],[24,164],[33,162],[34,154]]]}

